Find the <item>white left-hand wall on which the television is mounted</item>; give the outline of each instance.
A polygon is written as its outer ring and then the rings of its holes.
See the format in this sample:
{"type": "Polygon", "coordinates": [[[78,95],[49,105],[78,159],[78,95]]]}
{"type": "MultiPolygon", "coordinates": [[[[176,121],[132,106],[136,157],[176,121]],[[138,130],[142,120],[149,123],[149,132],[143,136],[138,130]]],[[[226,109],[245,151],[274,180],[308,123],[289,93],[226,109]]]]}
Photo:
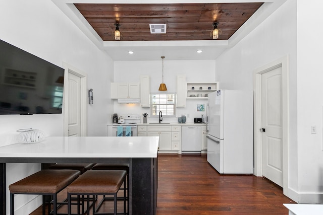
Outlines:
{"type": "MultiPolygon", "coordinates": [[[[88,105],[88,135],[106,135],[107,116],[113,113],[110,82],[113,80],[113,61],[89,39],[51,2],[43,0],[16,0],[0,2],[0,39],[53,64],[63,62],[88,74],[88,87],[93,88],[94,104],[88,105]],[[98,75],[97,75],[98,74],[98,75]],[[109,90],[108,90],[109,89],[109,90]]],[[[47,136],[63,135],[62,114],[2,115],[0,116],[0,146],[15,142],[16,130],[35,128],[47,136]]],[[[39,164],[7,165],[7,183],[10,184],[40,169],[39,164]],[[19,170],[20,174],[11,171],[19,170]]],[[[15,171],[16,172],[16,171],[15,171]]],[[[26,195],[17,198],[17,215],[28,214],[40,202],[26,195]],[[27,206],[24,206],[29,202],[27,206]]],[[[9,191],[7,190],[7,199],[9,191]]],[[[9,214],[9,200],[7,214],[9,214]]]]}

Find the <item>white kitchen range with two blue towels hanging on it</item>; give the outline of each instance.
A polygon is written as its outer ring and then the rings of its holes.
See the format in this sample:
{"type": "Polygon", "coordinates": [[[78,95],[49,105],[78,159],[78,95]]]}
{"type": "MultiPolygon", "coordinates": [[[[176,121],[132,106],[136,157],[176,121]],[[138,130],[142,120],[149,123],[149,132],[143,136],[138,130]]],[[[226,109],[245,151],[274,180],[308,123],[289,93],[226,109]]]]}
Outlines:
{"type": "Polygon", "coordinates": [[[131,136],[137,136],[137,123],[140,122],[140,115],[125,114],[119,117],[118,123],[112,124],[112,136],[117,136],[118,126],[123,127],[123,136],[126,136],[126,127],[131,126],[131,136]]]}

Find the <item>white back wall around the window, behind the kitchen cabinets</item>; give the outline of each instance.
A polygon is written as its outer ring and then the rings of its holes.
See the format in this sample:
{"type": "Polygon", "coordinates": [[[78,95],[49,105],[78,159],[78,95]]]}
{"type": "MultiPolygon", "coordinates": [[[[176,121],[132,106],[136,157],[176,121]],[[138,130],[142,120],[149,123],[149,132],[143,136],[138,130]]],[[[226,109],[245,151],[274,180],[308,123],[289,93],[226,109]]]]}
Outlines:
{"type": "MultiPolygon", "coordinates": [[[[185,75],[187,82],[215,82],[215,60],[167,60],[164,59],[164,83],[167,92],[176,93],[176,75],[185,75]]],[[[115,61],[115,82],[140,82],[140,75],[150,76],[150,92],[159,93],[158,88],[162,81],[162,60],[151,61],[115,61]]],[[[163,117],[164,121],[177,122],[177,117],[187,116],[187,122],[194,122],[194,117],[205,116],[205,112],[197,111],[197,104],[207,103],[206,99],[186,100],[186,107],[176,108],[176,117],[163,117]]],[[[140,104],[119,104],[115,101],[115,112],[120,114],[149,113],[149,108],[141,108],[140,104]]],[[[147,121],[157,121],[150,118],[147,121]]]]}

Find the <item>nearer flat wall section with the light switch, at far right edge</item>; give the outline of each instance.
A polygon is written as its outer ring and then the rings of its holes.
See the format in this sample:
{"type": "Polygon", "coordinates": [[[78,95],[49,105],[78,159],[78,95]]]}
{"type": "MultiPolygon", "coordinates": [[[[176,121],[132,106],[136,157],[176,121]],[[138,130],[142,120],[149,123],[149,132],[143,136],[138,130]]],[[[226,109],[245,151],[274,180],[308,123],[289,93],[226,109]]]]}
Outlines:
{"type": "Polygon", "coordinates": [[[300,202],[323,203],[323,34],[319,0],[297,1],[297,143],[300,202]],[[306,27],[305,27],[306,26],[306,27]],[[304,27],[307,29],[305,30],[304,27]],[[312,29],[309,34],[308,29],[312,29]],[[310,126],[317,125],[317,133],[310,126]],[[312,199],[312,193],[320,193],[312,199]]]}

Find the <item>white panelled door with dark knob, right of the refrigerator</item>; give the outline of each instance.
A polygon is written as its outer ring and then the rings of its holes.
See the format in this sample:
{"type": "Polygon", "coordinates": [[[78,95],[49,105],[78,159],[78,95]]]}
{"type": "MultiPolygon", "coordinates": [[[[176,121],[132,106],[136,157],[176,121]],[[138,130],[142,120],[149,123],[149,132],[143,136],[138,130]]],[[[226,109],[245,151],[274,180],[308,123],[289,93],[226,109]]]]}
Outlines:
{"type": "Polygon", "coordinates": [[[261,75],[262,175],[283,187],[282,67],[261,75]]]}

